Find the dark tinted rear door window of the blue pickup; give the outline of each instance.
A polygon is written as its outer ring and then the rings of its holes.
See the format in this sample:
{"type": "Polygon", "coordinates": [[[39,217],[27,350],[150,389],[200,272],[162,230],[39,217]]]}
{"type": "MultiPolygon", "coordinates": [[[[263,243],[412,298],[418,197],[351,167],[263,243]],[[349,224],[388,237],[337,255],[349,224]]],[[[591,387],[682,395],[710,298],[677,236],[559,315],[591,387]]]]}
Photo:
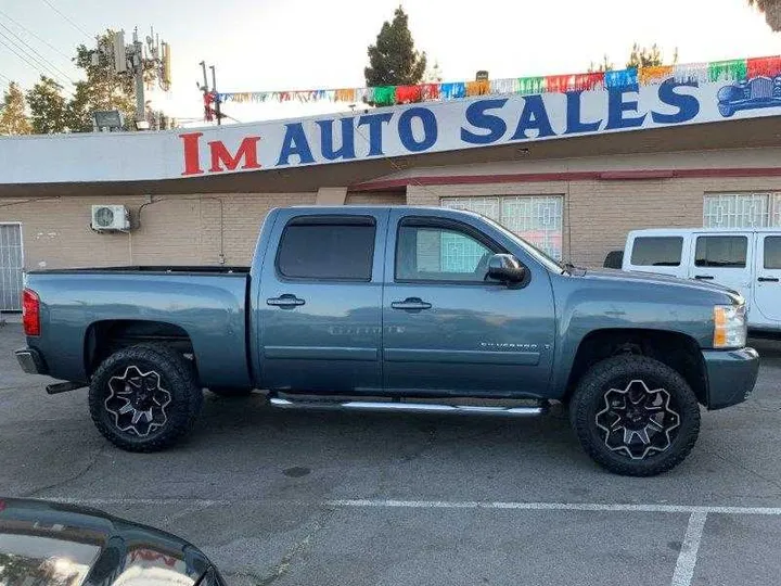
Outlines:
{"type": "Polygon", "coordinates": [[[285,226],[277,270],[291,279],[371,281],[373,218],[302,216],[285,226]]]}

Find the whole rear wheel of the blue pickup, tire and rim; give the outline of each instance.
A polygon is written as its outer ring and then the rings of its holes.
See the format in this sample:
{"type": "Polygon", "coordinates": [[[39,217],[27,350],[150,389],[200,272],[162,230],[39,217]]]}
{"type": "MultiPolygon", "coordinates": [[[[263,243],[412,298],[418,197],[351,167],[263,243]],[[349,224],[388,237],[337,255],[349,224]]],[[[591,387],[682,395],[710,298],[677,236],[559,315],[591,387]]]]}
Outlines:
{"type": "Polygon", "coordinates": [[[195,370],[161,344],[123,348],[95,370],[89,390],[98,430],[129,451],[157,451],[187,434],[201,411],[195,370]]]}

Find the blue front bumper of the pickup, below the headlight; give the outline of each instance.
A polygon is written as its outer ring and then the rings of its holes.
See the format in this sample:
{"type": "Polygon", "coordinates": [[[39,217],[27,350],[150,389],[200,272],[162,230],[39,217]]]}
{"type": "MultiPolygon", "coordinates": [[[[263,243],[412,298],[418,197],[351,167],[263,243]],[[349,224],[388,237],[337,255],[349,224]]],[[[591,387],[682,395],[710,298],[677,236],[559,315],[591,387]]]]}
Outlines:
{"type": "Polygon", "coordinates": [[[724,409],[743,403],[754,391],[759,354],[754,348],[703,351],[707,377],[707,408],[724,409]]]}

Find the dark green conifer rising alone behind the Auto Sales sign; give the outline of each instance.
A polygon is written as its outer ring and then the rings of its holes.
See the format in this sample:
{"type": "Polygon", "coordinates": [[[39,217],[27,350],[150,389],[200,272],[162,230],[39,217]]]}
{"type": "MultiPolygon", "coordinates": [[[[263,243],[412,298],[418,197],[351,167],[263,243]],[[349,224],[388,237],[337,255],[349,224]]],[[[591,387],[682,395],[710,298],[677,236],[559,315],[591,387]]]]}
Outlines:
{"type": "Polygon", "coordinates": [[[376,43],[370,44],[367,53],[369,66],[363,69],[367,86],[411,86],[423,78],[426,55],[415,51],[401,7],[396,9],[392,23],[383,23],[376,43]]]}

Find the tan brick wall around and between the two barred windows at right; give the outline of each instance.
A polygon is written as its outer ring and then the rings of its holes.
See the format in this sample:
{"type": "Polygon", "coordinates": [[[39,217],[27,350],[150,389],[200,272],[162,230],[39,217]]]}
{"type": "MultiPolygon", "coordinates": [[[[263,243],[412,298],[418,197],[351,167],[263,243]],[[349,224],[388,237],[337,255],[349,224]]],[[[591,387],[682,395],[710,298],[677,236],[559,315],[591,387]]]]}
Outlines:
{"type": "Polygon", "coordinates": [[[411,184],[407,200],[410,205],[438,205],[446,196],[563,195],[564,258],[600,267],[610,251],[624,247],[629,230],[699,227],[706,193],[752,191],[781,191],[781,177],[411,184]]]}

